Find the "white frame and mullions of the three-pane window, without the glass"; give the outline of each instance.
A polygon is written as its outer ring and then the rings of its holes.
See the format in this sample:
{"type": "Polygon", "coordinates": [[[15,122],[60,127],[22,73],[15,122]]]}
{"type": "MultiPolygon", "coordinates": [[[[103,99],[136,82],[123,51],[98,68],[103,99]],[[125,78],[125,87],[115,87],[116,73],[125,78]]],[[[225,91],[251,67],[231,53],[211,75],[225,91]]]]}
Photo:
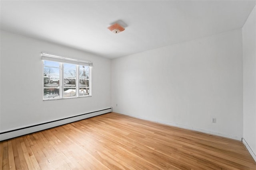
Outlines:
{"type": "MultiPolygon", "coordinates": [[[[48,53],[42,53],[42,61],[43,61],[43,75],[44,75],[44,61],[54,61],[59,63],[60,67],[60,80],[59,80],[59,88],[60,94],[58,98],[44,98],[44,76],[43,76],[43,100],[58,100],[58,99],[69,99],[69,98],[82,98],[82,97],[91,97],[92,96],[92,62],[89,61],[81,61],[76,59],[70,59],[67,57],[60,57],[57,55],[50,55],[48,53]],[[51,58],[53,57],[53,58],[51,58]],[[64,62],[61,62],[64,61],[64,62]],[[75,64],[76,65],[76,96],[72,97],[64,97],[64,63],[67,64],[75,64]],[[80,66],[89,66],[89,94],[80,96],[80,66]]],[[[87,79],[86,79],[87,80],[87,79]]]]}

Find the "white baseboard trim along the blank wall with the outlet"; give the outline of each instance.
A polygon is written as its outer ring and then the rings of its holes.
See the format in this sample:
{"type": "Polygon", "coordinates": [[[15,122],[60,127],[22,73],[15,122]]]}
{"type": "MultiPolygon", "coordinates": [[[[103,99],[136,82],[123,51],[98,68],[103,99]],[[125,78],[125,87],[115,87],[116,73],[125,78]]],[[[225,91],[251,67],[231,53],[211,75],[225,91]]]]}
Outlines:
{"type": "Polygon", "coordinates": [[[206,129],[200,129],[200,128],[196,128],[196,127],[190,127],[190,126],[187,126],[187,125],[180,125],[178,123],[172,123],[172,122],[168,122],[168,121],[152,120],[152,119],[148,119],[148,118],[145,118],[145,117],[136,117],[136,116],[132,116],[132,117],[135,117],[135,118],[138,118],[138,119],[144,119],[144,120],[148,120],[148,121],[153,121],[153,122],[161,123],[161,124],[165,124],[165,125],[170,125],[170,126],[174,126],[174,127],[180,127],[182,129],[188,129],[188,130],[192,130],[192,131],[208,133],[210,135],[217,135],[217,136],[221,136],[221,137],[235,139],[237,141],[241,141],[242,140],[242,137],[238,137],[238,136],[234,136],[234,135],[229,135],[229,134],[225,134],[225,133],[220,133],[220,132],[215,132],[215,131],[209,131],[209,130],[206,130],[206,129]]]}

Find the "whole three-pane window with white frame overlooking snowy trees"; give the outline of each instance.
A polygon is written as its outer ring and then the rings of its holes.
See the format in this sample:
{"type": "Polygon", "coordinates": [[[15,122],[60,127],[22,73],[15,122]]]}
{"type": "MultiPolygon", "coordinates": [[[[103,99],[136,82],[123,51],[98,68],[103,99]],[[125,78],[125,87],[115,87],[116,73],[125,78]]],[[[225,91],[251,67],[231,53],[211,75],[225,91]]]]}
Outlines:
{"type": "Polygon", "coordinates": [[[92,63],[42,53],[44,61],[43,100],[91,96],[92,63]],[[64,59],[62,59],[64,58],[64,59]],[[50,59],[50,60],[46,60],[50,59]],[[62,60],[61,60],[62,59],[62,60]],[[63,62],[58,62],[63,61],[63,62]],[[78,64],[76,64],[78,63],[78,64]]]}

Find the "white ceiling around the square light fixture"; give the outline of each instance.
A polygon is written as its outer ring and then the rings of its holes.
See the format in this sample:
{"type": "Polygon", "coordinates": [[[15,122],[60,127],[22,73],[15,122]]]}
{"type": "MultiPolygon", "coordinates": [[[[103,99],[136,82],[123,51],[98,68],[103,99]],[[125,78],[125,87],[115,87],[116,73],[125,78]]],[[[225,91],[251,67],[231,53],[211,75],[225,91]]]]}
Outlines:
{"type": "Polygon", "coordinates": [[[4,1],[1,29],[110,59],[243,26],[256,1],[4,1]],[[118,21],[121,33],[107,29],[118,21]]]}

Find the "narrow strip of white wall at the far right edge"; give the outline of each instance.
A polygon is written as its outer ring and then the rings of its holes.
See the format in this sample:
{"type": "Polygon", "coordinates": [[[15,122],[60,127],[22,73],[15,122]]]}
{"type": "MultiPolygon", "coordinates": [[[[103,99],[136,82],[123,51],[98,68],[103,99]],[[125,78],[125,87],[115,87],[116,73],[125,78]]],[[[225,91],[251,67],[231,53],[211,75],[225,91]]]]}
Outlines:
{"type": "Polygon", "coordinates": [[[256,7],[242,28],[244,77],[244,139],[256,160],[256,7]]]}

